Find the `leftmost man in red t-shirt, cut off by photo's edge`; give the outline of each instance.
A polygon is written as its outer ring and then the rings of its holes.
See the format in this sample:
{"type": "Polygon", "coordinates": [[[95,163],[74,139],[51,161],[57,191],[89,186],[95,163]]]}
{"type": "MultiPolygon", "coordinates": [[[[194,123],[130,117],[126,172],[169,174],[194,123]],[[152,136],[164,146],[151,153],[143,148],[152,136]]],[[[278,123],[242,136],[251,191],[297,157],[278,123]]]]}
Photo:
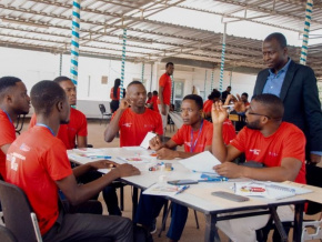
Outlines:
{"type": "Polygon", "coordinates": [[[16,140],[13,122],[20,114],[27,114],[30,98],[23,82],[14,77],[0,78],[0,174],[6,180],[6,154],[16,140]]]}

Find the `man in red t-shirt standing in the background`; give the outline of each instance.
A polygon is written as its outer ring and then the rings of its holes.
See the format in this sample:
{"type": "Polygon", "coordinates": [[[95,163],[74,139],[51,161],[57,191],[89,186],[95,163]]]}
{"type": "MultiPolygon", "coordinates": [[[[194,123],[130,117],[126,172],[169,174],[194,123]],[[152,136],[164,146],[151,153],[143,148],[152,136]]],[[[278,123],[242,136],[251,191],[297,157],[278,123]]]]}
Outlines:
{"type": "Polygon", "coordinates": [[[165,73],[162,74],[159,79],[159,110],[162,117],[163,129],[167,128],[168,123],[168,113],[170,109],[172,89],[171,75],[173,74],[173,71],[174,64],[172,62],[168,62],[165,64],[165,73]]]}

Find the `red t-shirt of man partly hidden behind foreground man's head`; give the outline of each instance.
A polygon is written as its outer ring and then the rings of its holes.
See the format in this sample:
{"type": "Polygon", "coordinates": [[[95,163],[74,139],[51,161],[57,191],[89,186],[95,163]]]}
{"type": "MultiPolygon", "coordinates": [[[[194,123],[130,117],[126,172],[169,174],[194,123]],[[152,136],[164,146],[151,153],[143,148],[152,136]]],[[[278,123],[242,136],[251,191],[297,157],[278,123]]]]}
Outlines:
{"type": "MultiPolygon", "coordinates": [[[[34,127],[37,123],[36,114],[32,115],[29,129],[34,127]]],[[[88,135],[88,121],[87,117],[77,109],[70,109],[70,121],[68,124],[61,124],[57,138],[59,138],[66,145],[68,150],[74,149],[76,137],[87,137],[88,135]]]]}

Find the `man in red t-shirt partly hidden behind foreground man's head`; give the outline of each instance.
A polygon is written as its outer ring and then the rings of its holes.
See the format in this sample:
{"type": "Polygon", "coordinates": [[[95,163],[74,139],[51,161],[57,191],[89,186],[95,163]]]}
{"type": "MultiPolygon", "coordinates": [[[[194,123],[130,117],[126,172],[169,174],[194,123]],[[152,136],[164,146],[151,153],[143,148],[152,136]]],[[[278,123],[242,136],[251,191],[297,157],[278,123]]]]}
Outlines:
{"type": "MultiPolygon", "coordinates": [[[[70,105],[77,104],[77,91],[76,85],[68,77],[58,77],[53,80],[57,82],[66,92],[70,105]]],[[[37,123],[36,115],[33,114],[29,129],[34,127],[37,123]]],[[[57,135],[66,145],[68,150],[88,147],[88,122],[85,115],[74,109],[70,109],[70,122],[68,124],[61,124],[57,135]]]]}

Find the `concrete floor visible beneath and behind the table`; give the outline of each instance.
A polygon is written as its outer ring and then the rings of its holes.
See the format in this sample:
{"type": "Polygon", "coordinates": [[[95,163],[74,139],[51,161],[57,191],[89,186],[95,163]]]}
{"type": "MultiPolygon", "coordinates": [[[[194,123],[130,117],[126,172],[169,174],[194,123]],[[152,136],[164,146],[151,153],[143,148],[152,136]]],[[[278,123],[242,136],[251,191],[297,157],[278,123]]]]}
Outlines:
{"type": "MultiPolygon", "coordinates": [[[[22,132],[24,130],[27,130],[28,128],[28,124],[29,124],[29,120],[26,120],[26,124],[23,125],[23,129],[22,129],[22,132]]],[[[105,122],[100,124],[100,121],[99,120],[90,120],[89,123],[88,123],[88,143],[92,144],[94,148],[108,148],[108,147],[119,147],[119,139],[115,138],[111,143],[107,143],[104,140],[103,140],[103,133],[104,133],[104,130],[107,128],[107,124],[105,122]]],[[[174,134],[174,132],[177,132],[177,129],[171,130],[170,132],[170,127],[168,125],[167,128],[167,132],[165,132],[165,135],[168,137],[172,137],[174,134]]],[[[182,148],[180,148],[182,149],[182,148]]],[[[131,193],[132,193],[132,190],[131,190],[131,186],[130,185],[127,185],[124,186],[124,211],[122,212],[123,216],[127,216],[127,218],[131,218],[132,216],[132,201],[131,201],[131,193]]],[[[120,196],[119,196],[120,198],[120,196]]],[[[107,208],[105,208],[105,203],[102,199],[102,196],[100,195],[99,200],[102,202],[102,205],[103,205],[103,214],[108,214],[107,213],[107,208]]],[[[167,234],[167,231],[168,231],[168,228],[169,228],[169,223],[170,223],[170,219],[168,219],[167,221],[167,228],[165,228],[165,231],[162,232],[162,235],[161,238],[158,236],[158,233],[160,231],[160,228],[161,228],[161,221],[162,221],[162,211],[157,220],[157,228],[158,228],[158,232],[155,234],[153,234],[153,240],[155,242],[165,242],[168,241],[165,234],[167,234]]],[[[182,238],[180,241],[182,242],[199,242],[199,241],[203,241],[204,240],[204,229],[205,229],[205,218],[202,213],[200,212],[197,212],[197,215],[198,215],[198,220],[199,220],[199,225],[200,228],[197,229],[197,225],[195,225],[195,219],[194,219],[194,215],[193,215],[193,211],[192,210],[189,210],[189,216],[188,216],[188,221],[187,221],[187,224],[185,224],[185,228],[184,228],[184,231],[183,231],[183,234],[182,234],[182,238]]],[[[305,219],[318,219],[319,216],[305,216],[305,219]]],[[[292,231],[291,231],[292,232],[292,231]]],[[[290,233],[291,234],[291,233],[290,233]]],[[[271,239],[271,235],[272,233],[270,233],[270,239],[269,241],[272,241],[271,239]]],[[[228,242],[229,239],[220,232],[220,238],[223,242],[228,242]]],[[[292,241],[292,238],[290,238],[289,241],[292,241]]],[[[315,240],[316,242],[320,241],[320,240],[315,240]]]]}

